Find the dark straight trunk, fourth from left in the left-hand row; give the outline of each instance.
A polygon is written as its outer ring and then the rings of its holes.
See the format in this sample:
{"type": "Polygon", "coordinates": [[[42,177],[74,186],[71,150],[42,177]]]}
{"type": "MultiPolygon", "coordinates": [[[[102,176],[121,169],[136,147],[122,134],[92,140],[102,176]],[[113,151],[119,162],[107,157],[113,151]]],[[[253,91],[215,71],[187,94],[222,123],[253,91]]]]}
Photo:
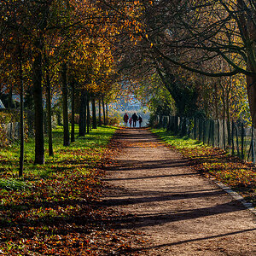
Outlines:
{"type": "Polygon", "coordinates": [[[63,128],[64,141],[63,146],[69,145],[69,129],[68,129],[68,110],[67,110],[67,63],[63,62],[61,70],[62,79],[62,104],[63,104],[63,128]]]}

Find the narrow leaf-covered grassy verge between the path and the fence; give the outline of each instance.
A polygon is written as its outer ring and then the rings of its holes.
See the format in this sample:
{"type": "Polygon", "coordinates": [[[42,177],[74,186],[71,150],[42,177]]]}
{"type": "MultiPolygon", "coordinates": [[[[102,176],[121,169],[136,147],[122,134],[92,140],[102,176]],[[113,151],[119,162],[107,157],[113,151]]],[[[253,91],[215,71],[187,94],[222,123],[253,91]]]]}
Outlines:
{"type": "Polygon", "coordinates": [[[196,171],[229,185],[256,207],[255,166],[226,154],[220,148],[208,147],[188,137],[176,137],[164,129],[152,131],[188,158],[196,171]]]}

